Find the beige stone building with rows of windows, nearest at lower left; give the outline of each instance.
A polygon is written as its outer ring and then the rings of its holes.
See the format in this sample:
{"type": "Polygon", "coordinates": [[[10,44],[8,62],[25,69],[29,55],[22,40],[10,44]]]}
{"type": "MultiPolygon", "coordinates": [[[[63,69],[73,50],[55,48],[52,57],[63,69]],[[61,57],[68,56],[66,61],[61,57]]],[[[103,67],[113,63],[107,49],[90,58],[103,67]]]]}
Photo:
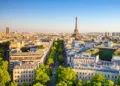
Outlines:
{"type": "Polygon", "coordinates": [[[19,63],[13,69],[13,81],[18,83],[19,86],[23,86],[24,82],[32,84],[35,78],[35,70],[39,65],[37,63],[19,63]]]}

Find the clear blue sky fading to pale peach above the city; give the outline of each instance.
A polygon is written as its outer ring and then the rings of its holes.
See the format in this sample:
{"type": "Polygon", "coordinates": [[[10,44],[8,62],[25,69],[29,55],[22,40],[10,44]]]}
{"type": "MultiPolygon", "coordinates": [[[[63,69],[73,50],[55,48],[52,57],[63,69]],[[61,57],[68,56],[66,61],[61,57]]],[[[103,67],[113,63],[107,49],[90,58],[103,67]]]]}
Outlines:
{"type": "Polygon", "coordinates": [[[120,0],[0,0],[0,31],[120,32],[120,0]]]}

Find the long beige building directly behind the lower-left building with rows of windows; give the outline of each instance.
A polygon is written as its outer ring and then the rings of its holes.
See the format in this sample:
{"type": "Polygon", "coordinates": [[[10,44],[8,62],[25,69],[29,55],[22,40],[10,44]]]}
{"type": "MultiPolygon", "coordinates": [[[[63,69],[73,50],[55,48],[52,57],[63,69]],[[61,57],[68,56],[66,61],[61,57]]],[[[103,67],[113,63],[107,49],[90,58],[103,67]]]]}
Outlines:
{"type": "Polygon", "coordinates": [[[37,62],[41,64],[41,58],[44,56],[43,51],[36,52],[17,52],[10,54],[10,65],[9,71],[12,75],[13,68],[16,66],[18,62],[37,62]]]}

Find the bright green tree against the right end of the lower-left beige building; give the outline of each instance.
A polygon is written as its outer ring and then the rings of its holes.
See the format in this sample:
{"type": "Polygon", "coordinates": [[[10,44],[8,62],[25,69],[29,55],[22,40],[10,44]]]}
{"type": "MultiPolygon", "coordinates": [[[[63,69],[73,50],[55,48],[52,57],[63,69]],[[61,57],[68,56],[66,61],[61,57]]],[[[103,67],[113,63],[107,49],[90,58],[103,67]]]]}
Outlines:
{"type": "Polygon", "coordinates": [[[46,84],[49,80],[50,77],[44,71],[42,71],[40,68],[36,69],[34,82],[40,82],[42,84],[46,84]]]}

